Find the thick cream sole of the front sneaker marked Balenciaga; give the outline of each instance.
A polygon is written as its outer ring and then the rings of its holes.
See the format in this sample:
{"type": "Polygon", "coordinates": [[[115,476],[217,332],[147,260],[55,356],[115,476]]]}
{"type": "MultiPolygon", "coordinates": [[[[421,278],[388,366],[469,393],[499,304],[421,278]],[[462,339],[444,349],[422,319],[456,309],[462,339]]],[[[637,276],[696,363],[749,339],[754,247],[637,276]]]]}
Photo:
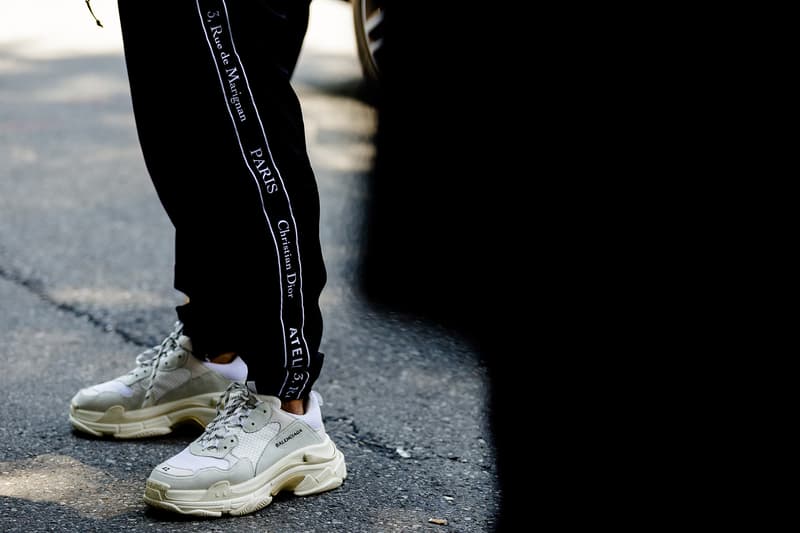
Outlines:
{"type": "Polygon", "coordinates": [[[322,444],[294,451],[256,477],[238,484],[219,481],[208,489],[177,490],[149,479],[144,501],[185,515],[239,516],[263,509],[281,491],[309,496],[341,486],[346,477],[344,455],[328,438],[322,444]]]}

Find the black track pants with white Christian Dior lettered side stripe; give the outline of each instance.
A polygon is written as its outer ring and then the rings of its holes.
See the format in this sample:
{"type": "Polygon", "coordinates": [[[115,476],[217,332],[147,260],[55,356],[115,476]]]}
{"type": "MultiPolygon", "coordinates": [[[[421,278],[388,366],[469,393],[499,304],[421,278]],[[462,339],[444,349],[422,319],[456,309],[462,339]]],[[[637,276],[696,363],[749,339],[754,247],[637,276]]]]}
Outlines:
{"type": "Polygon", "coordinates": [[[290,77],[309,0],[119,0],[145,163],[175,226],[178,308],[202,358],[260,393],[319,375],[319,194],[290,77]]]}

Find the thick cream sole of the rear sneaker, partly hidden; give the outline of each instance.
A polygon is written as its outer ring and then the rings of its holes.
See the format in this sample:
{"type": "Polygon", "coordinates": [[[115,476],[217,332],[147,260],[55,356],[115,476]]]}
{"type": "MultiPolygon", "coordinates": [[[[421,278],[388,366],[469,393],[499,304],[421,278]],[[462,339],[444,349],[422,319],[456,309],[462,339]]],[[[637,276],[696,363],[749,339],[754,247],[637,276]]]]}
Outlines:
{"type": "Polygon", "coordinates": [[[165,404],[126,411],[121,405],[106,411],[89,411],[70,405],[69,422],[78,431],[95,437],[112,436],[117,439],[157,437],[172,432],[186,422],[204,428],[217,414],[217,400],[221,393],[200,394],[165,404]]]}

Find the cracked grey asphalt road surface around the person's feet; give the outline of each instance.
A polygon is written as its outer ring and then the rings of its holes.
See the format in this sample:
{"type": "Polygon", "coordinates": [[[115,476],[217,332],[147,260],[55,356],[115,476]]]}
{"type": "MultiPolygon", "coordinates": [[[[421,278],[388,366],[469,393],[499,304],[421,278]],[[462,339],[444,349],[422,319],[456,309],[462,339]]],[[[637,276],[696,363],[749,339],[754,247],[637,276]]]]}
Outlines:
{"type": "MultiPolygon", "coordinates": [[[[349,8],[335,0],[312,3],[295,85],[329,273],[318,389],[345,484],[246,517],[183,519],[149,510],[141,494],[197,430],[134,442],[71,431],[75,391],[129,370],[182,300],[112,4],[93,3],[105,30],[79,0],[0,6],[0,531],[491,531],[485,369],[459,338],[379,313],[356,289],[376,116],[349,8]]],[[[201,172],[203,154],[187,152],[186,165],[201,172]]]]}

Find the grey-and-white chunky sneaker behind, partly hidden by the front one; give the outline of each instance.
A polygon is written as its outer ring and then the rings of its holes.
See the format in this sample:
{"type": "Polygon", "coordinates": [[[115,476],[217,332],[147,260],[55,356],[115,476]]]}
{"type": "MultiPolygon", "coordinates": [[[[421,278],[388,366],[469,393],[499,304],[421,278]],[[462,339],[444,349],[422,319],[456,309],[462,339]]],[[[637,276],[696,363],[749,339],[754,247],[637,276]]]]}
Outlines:
{"type": "Polygon", "coordinates": [[[205,426],[231,381],[247,377],[244,361],[237,358],[230,365],[225,365],[226,377],[217,371],[221,365],[195,358],[183,324],[176,322],[159,346],[136,357],[136,368],[81,389],[70,402],[69,421],[78,431],[120,439],[165,435],[187,420],[205,426]]]}

